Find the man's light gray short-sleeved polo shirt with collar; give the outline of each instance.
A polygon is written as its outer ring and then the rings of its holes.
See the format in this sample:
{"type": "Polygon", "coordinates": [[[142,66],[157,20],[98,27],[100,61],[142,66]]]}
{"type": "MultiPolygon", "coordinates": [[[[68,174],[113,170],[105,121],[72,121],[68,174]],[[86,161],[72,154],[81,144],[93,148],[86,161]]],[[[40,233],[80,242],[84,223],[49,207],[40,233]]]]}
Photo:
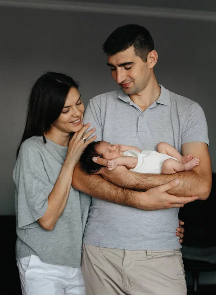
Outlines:
{"type": "MultiPolygon", "coordinates": [[[[187,142],[209,144],[202,108],[161,86],[161,95],[144,112],[119,89],[92,98],[84,123],[96,127],[97,140],[156,150],[167,142],[181,152],[187,142]]],[[[103,192],[101,191],[101,195],[103,192]]],[[[92,198],[84,243],[131,250],[180,248],[175,235],[178,208],[144,211],[92,198]]]]}

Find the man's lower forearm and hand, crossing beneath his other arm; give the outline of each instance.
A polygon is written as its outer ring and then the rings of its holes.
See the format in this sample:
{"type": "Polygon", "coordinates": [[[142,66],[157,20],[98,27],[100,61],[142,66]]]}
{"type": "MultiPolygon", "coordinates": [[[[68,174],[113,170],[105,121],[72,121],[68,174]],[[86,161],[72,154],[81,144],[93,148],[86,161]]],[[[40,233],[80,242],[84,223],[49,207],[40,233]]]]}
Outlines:
{"type": "MultiPolygon", "coordinates": [[[[126,168],[125,168],[126,169],[126,168]]],[[[177,197],[167,193],[178,185],[177,179],[164,185],[154,187],[146,192],[125,189],[103,179],[99,175],[87,175],[79,163],[73,171],[72,186],[92,197],[119,205],[136,207],[143,210],[158,210],[172,207],[183,207],[197,197],[177,197]]]]}

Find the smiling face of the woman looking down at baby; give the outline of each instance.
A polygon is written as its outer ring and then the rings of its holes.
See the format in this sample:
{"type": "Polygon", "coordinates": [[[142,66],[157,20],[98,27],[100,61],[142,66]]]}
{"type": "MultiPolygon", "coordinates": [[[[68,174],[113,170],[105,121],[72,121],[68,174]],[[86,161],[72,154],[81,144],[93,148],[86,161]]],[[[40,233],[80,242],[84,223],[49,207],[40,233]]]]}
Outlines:
{"type": "Polygon", "coordinates": [[[65,133],[79,131],[83,126],[83,113],[84,105],[81,95],[76,88],[71,88],[61,115],[52,123],[52,129],[58,129],[65,133]]]}

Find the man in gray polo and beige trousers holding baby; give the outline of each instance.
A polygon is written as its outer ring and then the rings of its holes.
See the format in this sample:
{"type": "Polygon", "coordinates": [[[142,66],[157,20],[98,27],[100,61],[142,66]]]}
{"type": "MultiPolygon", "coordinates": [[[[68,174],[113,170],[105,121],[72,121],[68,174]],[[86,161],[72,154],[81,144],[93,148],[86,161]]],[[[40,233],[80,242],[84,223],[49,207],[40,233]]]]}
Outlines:
{"type": "Polygon", "coordinates": [[[84,121],[96,127],[97,140],[154,150],[167,142],[183,155],[199,157],[200,165],[174,175],[103,168],[103,178],[76,167],[73,186],[95,197],[83,239],[87,295],[187,294],[175,230],[179,207],[193,196],[207,199],[211,190],[205,115],[197,103],[158,85],[153,71],[158,55],[144,27],[116,29],[103,49],[121,89],[87,106],[84,121]],[[177,186],[171,181],[176,178],[177,186]]]}

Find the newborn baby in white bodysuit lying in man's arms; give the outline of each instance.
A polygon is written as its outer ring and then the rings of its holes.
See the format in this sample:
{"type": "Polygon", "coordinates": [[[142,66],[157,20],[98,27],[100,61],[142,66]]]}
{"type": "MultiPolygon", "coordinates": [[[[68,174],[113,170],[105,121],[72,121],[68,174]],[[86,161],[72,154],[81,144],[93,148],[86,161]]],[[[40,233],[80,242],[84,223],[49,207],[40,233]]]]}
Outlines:
{"type": "Polygon", "coordinates": [[[192,154],[182,156],[177,149],[167,143],[159,143],[157,151],[141,150],[139,148],[111,145],[106,141],[93,142],[87,146],[80,157],[82,169],[89,175],[99,172],[101,165],[92,158],[101,157],[107,160],[108,170],[114,170],[118,165],[127,169],[149,174],[173,174],[191,170],[199,165],[199,158],[192,154]]]}

